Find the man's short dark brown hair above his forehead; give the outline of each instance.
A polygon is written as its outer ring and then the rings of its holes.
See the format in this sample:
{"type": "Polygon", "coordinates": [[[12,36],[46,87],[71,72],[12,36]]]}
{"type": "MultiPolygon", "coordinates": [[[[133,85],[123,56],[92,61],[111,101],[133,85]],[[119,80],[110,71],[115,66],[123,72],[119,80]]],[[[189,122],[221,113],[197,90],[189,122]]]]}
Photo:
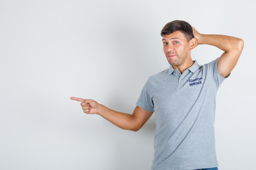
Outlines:
{"type": "Polygon", "coordinates": [[[161,36],[169,35],[175,31],[182,32],[188,41],[194,37],[192,26],[188,22],[181,20],[168,22],[162,29],[161,36]]]}

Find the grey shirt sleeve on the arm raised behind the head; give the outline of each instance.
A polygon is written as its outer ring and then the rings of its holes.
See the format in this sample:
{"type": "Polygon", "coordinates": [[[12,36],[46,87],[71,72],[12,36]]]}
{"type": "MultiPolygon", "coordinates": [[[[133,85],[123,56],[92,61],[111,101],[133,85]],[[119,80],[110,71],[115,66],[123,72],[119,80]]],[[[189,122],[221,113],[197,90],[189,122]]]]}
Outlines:
{"type": "Polygon", "coordinates": [[[216,58],[215,60],[213,60],[212,62],[209,62],[206,65],[207,68],[207,72],[210,73],[210,75],[213,77],[213,80],[216,84],[216,87],[219,88],[219,86],[222,84],[222,82],[227,79],[231,73],[229,73],[229,75],[227,75],[227,77],[222,77],[218,71],[218,60],[220,59],[220,57],[216,58]]]}

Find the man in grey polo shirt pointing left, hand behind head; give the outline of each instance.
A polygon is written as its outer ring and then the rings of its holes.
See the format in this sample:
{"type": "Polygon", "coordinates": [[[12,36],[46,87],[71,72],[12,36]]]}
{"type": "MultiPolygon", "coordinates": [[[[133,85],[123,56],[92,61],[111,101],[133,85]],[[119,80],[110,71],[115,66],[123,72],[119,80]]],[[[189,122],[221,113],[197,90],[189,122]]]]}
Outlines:
{"type": "Polygon", "coordinates": [[[214,118],[216,94],[243,50],[243,40],[204,35],[189,23],[175,20],[161,31],[170,67],[148,78],[132,115],[111,110],[92,99],[81,102],[84,113],[99,114],[119,128],[138,131],[155,112],[152,170],[218,170],[214,118]],[[199,44],[224,53],[208,64],[191,59],[199,44]]]}

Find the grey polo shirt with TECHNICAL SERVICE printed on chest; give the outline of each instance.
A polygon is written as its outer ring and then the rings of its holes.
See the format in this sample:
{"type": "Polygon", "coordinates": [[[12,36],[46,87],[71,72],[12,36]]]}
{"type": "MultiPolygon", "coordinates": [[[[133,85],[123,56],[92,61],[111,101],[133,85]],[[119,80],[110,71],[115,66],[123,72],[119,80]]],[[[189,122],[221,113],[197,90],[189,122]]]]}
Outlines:
{"type": "Polygon", "coordinates": [[[170,65],[148,78],[136,105],[155,112],[151,170],[218,167],[214,118],[222,77],[216,60],[194,64],[182,74],[170,65]]]}

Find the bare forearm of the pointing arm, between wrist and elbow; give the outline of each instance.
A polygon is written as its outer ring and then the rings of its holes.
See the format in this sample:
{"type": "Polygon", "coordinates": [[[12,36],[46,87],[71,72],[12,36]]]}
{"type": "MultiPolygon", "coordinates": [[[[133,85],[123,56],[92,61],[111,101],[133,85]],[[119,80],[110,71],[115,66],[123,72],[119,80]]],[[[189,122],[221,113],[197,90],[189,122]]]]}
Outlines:
{"type": "Polygon", "coordinates": [[[134,119],[128,113],[117,112],[101,104],[98,115],[101,115],[119,128],[134,131],[134,119]]]}

